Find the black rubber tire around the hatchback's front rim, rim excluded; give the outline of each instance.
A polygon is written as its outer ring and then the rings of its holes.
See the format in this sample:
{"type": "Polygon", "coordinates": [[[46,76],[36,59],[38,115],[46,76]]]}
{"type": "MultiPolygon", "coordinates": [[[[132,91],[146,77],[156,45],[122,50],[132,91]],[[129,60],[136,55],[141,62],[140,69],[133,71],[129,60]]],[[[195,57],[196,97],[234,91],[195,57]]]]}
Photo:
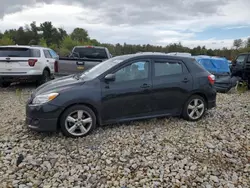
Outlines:
{"type": "Polygon", "coordinates": [[[63,114],[61,115],[60,120],[59,120],[59,125],[60,125],[60,128],[61,128],[63,135],[65,135],[67,137],[72,137],[72,138],[84,137],[84,136],[87,136],[88,134],[90,134],[95,129],[95,127],[96,127],[96,115],[93,112],[93,110],[91,110],[86,105],[74,105],[74,106],[69,107],[68,109],[66,109],[63,112],[63,114]],[[85,133],[84,135],[81,135],[81,136],[75,136],[75,135],[70,134],[65,127],[65,120],[66,120],[67,116],[71,112],[76,111],[76,110],[87,111],[92,118],[92,127],[90,128],[90,130],[87,133],[85,133]]]}

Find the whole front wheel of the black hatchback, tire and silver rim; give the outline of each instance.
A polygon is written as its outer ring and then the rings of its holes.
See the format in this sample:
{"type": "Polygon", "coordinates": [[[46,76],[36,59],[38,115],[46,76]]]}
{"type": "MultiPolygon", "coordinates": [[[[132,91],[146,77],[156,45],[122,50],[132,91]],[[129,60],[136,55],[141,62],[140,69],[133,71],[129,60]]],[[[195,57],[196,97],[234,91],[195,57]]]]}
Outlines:
{"type": "Polygon", "coordinates": [[[84,137],[91,133],[95,127],[96,115],[85,105],[74,105],[69,107],[63,112],[60,118],[61,131],[67,137],[84,137]]]}

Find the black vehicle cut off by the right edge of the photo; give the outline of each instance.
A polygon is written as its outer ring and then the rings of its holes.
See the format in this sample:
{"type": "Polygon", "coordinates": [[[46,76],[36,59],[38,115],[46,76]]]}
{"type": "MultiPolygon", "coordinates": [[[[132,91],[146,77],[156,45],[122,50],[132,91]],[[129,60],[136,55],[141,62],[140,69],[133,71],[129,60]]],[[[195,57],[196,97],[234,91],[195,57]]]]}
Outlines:
{"type": "Polygon", "coordinates": [[[233,61],[231,66],[233,76],[239,76],[243,80],[250,80],[250,53],[241,53],[233,61]]]}

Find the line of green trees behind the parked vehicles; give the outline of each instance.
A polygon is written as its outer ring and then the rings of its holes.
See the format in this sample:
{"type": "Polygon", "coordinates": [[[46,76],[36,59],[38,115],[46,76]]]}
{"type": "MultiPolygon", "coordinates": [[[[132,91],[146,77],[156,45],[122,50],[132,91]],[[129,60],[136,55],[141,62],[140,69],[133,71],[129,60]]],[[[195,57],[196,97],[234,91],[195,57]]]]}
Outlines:
{"type": "Polygon", "coordinates": [[[188,52],[192,55],[209,55],[233,59],[239,53],[250,52],[250,38],[246,41],[235,39],[231,48],[208,49],[205,46],[188,48],[181,43],[172,43],[167,46],[155,46],[150,44],[108,44],[100,43],[92,39],[84,28],[75,28],[67,33],[63,28],[53,26],[52,22],[44,22],[37,25],[32,22],[18,29],[9,29],[0,33],[0,45],[40,45],[54,49],[60,56],[70,53],[74,46],[101,45],[109,49],[113,56],[131,54],[136,52],[188,52]]]}

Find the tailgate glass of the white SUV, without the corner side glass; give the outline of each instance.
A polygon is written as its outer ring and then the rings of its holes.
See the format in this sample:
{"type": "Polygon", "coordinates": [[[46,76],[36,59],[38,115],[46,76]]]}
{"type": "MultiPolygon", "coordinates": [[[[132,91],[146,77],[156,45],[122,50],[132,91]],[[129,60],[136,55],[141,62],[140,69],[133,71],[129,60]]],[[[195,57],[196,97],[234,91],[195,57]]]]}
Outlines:
{"type": "Polygon", "coordinates": [[[31,57],[29,48],[0,48],[0,57],[31,57]]]}

